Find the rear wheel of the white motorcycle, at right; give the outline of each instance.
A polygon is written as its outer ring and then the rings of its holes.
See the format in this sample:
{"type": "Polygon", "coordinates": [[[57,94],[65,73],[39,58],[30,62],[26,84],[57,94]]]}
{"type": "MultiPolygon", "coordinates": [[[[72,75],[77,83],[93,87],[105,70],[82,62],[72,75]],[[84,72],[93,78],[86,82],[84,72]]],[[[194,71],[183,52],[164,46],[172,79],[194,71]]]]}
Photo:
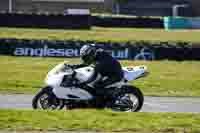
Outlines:
{"type": "Polygon", "coordinates": [[[138,112],[144,102],[142,92],[134,86],[123,86],[114,100],[112,110],[120,112],[138,112]]]}

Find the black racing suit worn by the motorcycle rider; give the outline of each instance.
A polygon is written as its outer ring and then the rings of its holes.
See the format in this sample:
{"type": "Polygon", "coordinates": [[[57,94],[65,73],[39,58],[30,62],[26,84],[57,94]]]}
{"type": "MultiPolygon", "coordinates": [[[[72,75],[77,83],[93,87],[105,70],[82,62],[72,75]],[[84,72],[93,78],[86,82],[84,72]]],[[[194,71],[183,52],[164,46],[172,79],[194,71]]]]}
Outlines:
{"type": "MultiPolygon", "coordinates": [[[[87,65],[84,65],[84,63],[80,65],[73,65],[73,68],[80,68],[84,66],[87,65]]],[[[96,51],[94,68],[95,74],[88,81],[88,83],[95,81],[97,75],[100,74],[102,78],[94,82],[94,87],[97,89],[103,89],[105,86],[120,81],[123,78],[123,71],[120,63],[102,49],[96,51]],[[104,77],[107,78],[102,80],[104,77]]]]}

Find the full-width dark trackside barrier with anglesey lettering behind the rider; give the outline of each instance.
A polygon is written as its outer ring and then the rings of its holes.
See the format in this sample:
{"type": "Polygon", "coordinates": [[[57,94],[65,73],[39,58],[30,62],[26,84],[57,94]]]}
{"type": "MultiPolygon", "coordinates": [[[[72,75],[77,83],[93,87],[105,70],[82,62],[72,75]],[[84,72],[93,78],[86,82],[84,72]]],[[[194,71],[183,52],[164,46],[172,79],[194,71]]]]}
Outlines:
{"type": "Polygon", "coordinates": [[[79,57],[80,48],[95,43],[117,59],[131,60],[200,60],[200,46],[185,43],[148,42],[111,43],[88,41],[47,41],[0,39],[0,55],[31,57],[79,57]]]}

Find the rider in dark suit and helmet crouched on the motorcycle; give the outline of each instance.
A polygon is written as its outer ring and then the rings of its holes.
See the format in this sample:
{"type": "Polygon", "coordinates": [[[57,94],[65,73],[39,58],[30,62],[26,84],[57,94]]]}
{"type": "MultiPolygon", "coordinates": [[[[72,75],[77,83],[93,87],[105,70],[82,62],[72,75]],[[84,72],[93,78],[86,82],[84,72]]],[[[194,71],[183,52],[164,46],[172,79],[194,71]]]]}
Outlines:
{"type": "Polygon", "coordinates": [[[103,49],[97,49],[95,44],[84,45],[80,49],[80,57],[83,61],[73,68],[94,65],[95,74],[87,83],[93,83],[94,88],[104,89],[105,86],[118,82],[123,78],[120,63],[103,49]]]}

